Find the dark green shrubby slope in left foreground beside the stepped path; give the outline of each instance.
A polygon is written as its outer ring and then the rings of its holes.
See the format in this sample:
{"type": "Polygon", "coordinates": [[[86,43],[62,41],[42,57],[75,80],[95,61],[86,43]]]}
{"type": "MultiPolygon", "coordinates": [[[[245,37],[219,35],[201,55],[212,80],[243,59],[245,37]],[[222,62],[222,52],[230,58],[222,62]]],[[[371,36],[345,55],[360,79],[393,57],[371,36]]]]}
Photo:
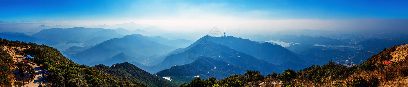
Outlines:
{"type": "MultiPolygon", "coordinates": [[[[137,81],[132,83],[125,78],[118,78],[115,75],[100,72],[86,65],[73,63],[62,56],[57,49],[46,45],[8,41],[7,39],[1,39],[0,45],[28,47],[27,50],[21,53],[35,57],[32,60],[33,62],[42,65],[45,70],[51,72],[48,75],[51,83],[47,87],[138,87],[138,84],[140,84],[137,81]]],[[[0,72],[1,87],[11,87],[9,83],[11,79],[7,76],[12,73],[7,67],[13,61],[8,53],[1,51],[0,54],[0,65],[2,65],[0,72]]]]}

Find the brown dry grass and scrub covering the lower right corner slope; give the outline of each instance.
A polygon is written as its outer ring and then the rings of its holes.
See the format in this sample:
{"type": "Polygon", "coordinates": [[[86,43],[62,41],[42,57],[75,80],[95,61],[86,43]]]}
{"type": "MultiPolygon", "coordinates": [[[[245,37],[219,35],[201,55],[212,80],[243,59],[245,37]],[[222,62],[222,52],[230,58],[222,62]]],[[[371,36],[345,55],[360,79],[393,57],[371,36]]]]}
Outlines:
{"type": "Polygon", "coordinates": [[[387,65],[379,70],[354,73],[347,79],[328,80],[323,83],[299,79],[295,80],[294,84],[296,87],[377,87],[379,84],[392,83],[394,80],[402,79],[407,76],[408,60],[406,59],[398,63],[395,62],[387,65]]]}

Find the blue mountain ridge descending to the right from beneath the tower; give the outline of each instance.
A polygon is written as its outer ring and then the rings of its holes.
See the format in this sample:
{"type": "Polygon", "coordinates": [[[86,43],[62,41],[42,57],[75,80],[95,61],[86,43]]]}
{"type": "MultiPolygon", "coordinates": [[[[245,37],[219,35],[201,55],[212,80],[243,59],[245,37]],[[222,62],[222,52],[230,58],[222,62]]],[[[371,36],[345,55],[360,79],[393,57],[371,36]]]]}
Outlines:
{"type": "Polygon", "coordinates": [[[249,39],[242,39],[233,36],[228,37],[213,37],[213,43],[228,46],[239,52],[250,54],[257,59],[263,59],[269,63],[276,65],[292,61],[303,65],[311,65],[307,61],[299,58],[299,56],[290,50],[283,48],[280,45],[271,43],[259,43],[249,39]]]}

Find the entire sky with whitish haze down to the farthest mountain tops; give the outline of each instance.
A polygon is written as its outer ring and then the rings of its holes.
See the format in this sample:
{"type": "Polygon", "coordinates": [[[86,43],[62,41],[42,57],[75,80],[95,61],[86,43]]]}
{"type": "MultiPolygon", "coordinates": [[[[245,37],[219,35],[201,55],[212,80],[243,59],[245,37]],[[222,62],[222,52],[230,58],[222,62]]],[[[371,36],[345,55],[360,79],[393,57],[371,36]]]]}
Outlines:
{"type": "Polygon", "coordinates": [[[1,1],[0,28],[134,22],[175,31],[405,29],[406,2],[370,1],[1,1]],[[175,27],[176,26],[176,27],[175,27]],[[177,27],[180,26],[180,27],[177,27]]]}

